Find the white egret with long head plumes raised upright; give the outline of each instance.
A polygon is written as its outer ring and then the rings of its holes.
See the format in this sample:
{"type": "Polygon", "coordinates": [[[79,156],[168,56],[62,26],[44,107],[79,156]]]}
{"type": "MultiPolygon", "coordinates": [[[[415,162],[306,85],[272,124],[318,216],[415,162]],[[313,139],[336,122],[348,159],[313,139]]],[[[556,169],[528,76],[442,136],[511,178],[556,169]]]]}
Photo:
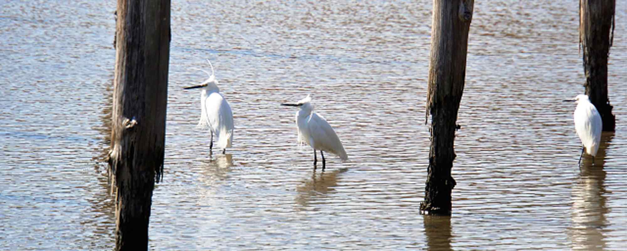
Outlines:
{"type": "Polygon", "coordinates": [[[209,127],[209,133],[211,134],[211,143],[209,143],[209,154],[213,149],[213,134],[216,134],[218,141],[216,146],[222,149],[222,153],[226,152],[226,147],[231,147],[233,142],[233,112],[231,106],[224,96],[220,93],[218,88],[218,81],[213,72],[213,65],[209,59],[209,67],[211,67],[211,74],[202,70],[209,75],[207,80],[204,80],[200,85],[192,87],[185,87],[184,89],[203,88],[200,95],[201,114],[198,122],[198,127],[209,127]]]}

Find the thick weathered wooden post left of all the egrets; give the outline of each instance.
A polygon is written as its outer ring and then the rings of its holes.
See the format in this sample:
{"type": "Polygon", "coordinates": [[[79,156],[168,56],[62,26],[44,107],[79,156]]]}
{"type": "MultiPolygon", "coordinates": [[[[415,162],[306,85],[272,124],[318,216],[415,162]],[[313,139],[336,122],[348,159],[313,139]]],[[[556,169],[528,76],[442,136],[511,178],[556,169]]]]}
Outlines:
{"type": "Polygon", "coordinates": [[[118,0],[109,175],[115,250],[147,250],[166,138],[170,1],[118,0]]]}

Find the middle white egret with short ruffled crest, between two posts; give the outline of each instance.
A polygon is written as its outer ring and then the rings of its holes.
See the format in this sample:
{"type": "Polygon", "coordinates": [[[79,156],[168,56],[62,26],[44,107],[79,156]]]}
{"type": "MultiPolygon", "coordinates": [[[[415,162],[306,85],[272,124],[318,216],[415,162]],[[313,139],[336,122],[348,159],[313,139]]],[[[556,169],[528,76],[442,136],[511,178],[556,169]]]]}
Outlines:
{"type": "Polygon", "coordinates": [[[316,150],[319,150],[320,156],[322,156],[323,171],[325,168],[323,151],[335,154],[344,161],[348,159],[346,151],[344,151],[344,146],[342,146],[342,142],[340,142],[339,137],[335,134],[333,127],[331,127],[329,122],[327,122],[322,115],[314,112],[314,105],[311,104],[309,95],[296,104],[281,105],[300,107],[300,110],[296,112],[298,143],[302,144],[302,142],[307,142],[307,144],[314,149],[314,170],[317,163],[316,150]]]}

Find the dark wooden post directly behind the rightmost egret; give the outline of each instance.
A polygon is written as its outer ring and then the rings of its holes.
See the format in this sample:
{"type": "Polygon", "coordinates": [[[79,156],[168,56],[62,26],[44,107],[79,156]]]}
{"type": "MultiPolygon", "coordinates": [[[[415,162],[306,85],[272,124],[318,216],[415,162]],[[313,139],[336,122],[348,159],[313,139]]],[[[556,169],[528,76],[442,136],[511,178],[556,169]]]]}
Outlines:
{"type": "Polygon", "coordinates": [[[614,38],[616,0],[579,1],[579,43],[583,48],[586,95],[594,104],[603,131],[614,131],[616,117],[608,99],[608,56],[614,38]]]}

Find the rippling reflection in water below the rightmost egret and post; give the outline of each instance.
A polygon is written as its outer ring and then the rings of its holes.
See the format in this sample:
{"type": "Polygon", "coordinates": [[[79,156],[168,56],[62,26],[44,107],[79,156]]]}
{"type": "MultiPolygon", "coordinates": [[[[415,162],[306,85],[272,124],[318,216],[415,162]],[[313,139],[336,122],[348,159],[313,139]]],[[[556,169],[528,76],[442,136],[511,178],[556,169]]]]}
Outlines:
{"type": "Polygon", "coordinates": [[[609,212],[606,198],[606,149],[614,132],[603,132],[601,146],[594,158],[582,159],[579,179],[572,186],[572,227],[568,231],[572,249],[596,250],[606,248],[604,228],[609,212]]]}

